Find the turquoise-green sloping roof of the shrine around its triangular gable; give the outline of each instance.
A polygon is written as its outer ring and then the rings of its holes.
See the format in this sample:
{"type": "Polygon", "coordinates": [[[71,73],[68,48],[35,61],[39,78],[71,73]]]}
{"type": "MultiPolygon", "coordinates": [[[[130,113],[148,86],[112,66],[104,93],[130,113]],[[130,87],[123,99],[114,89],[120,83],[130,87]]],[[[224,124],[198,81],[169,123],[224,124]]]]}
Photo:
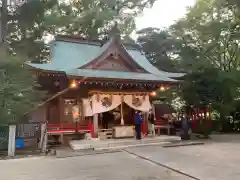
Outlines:
{"type": "Polygon", "coordinates": [[[148,73],[129,73],[116,71],[100,71],[76,69],[84,66],[100,56],[111,45],[113,38],[107,41],[103,46],[100,44],[87,44],[80,42],[69,42],[57,40],[51,43],[51,63],[49,64],[32,64],[29,65],[38,69],[48,71],[63,71],[72,76],[89,76],[99,78],[116,78],[131,80],[150,80],[150,81],[172,81],[171,78],[181,77],[181,73],[169,73],[158,70],[146,57],[137,49],[127,49],[122,47],[132,57],[140,67],[148,73]]]}

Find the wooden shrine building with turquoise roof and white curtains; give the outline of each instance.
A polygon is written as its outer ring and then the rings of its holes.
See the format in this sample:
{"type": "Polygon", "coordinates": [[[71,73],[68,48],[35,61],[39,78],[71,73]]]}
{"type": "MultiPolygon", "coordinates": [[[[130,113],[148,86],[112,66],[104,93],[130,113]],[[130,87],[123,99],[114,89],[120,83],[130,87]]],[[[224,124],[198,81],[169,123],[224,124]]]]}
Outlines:
{"type": "MultiPolygon", "coordinates": [[[[107,41],[57,36],[49,61],[28,64],[51,95],[30,120],[47,121],[49,135],[89,132],[97,137],[108,129],[113,137],[132,137],[134,112],[146,118],[156,90],[178,85],[183,76],[158,70],[138,46],[123,44],[118,36],[107,41]]],[[[147,133],[147,121],[142,131],[147,133]]]]}

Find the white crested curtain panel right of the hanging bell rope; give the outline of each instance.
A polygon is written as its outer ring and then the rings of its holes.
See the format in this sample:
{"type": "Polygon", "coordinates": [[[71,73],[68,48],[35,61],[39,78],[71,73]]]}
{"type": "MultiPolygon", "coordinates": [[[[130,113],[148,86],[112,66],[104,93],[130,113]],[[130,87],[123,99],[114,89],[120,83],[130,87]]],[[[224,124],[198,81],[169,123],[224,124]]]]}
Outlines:
{"type": "Polygon", "coordinates": [[[128,106],[135,110],[149,112],[149,110],[152,108],[148,95],[125,95],[123,99],[128,106]]]}

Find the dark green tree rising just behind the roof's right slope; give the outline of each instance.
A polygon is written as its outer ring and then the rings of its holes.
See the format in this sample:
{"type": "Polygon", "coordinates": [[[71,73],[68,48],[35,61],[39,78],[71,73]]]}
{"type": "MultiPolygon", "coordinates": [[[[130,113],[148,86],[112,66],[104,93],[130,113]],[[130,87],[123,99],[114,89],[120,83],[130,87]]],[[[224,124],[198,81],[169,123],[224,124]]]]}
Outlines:
{"type": "Polygon", "coordinates": [[[176,72],[178,71],[177,51],[178,40],[171,36],[167,30],[145,28],[137,32],[138,43],[148,60],[157,68],[176,72]]]}

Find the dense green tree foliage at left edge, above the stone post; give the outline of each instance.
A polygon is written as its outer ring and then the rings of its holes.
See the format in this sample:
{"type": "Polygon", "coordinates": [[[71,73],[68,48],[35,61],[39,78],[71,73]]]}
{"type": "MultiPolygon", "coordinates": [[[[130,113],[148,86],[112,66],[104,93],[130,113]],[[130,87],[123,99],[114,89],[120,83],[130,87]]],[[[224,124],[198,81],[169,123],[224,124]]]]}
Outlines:
{"type": "Polygon", "coordinates": [[[33,75],[17,57],[1,57],[0,124],[16,123],[36,107],[45,95],[37,90],[33,75]]]}

